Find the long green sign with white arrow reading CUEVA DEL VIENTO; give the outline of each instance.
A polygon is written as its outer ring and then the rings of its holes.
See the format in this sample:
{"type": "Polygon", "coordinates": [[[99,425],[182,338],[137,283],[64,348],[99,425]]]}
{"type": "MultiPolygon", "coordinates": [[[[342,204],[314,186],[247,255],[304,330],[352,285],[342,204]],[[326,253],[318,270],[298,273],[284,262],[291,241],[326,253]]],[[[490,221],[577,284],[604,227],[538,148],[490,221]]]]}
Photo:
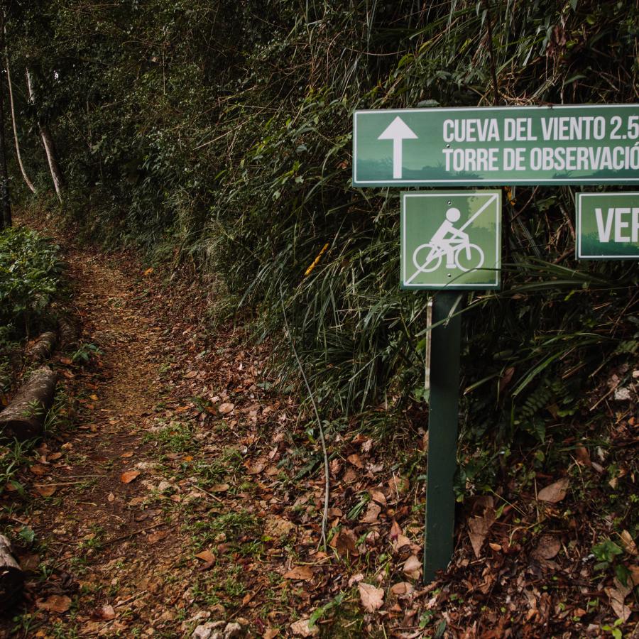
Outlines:
{"type": "Polygon", "coordinates": [[[353,185],[638,184],[638,142],[639,104],[356,111],[353,185]]]}

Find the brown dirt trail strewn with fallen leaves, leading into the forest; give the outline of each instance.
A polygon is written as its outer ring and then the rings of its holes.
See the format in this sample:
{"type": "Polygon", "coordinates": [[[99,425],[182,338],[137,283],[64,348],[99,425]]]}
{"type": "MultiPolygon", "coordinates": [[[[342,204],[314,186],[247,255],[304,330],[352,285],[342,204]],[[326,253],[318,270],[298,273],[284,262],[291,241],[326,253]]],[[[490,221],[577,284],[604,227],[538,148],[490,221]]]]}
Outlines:
{"type": "MultiPolygon", "coordinates": [[[[100,352],[82,367],[58,358],[76,415],[31,466],[46,499],[23,520],[36,539],[26,563],[40,574],[13,626],[23,636],[178,637],[227,623],[253,598],[246,567],[263,550],[241,550],[260,546],[260,506],[249,484],[238,487],[243,459],[228,448],[241,425],[223,420],[235,413],[226,388],[246,381],[228,374],[237,351],[226,344],[217,353],[231,364],[216,360],[189,321],[197,310],[185,317],[184,300],[160,293],[152,275],[91,250],[66,253],[82,339],[100,352]]],[[[255,417],[263,407],[251,404],[255,417]]]]}

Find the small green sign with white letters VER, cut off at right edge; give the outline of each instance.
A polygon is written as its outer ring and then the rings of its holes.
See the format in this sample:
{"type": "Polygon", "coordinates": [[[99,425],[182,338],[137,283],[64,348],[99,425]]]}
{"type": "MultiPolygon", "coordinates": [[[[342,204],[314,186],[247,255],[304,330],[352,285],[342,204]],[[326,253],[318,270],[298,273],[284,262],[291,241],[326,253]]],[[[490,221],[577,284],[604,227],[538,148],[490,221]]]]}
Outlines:
{"type": "Polygon", "coordinates": [[[639,259],[639,193],[577,193],[577,259],[639,259]]]}

